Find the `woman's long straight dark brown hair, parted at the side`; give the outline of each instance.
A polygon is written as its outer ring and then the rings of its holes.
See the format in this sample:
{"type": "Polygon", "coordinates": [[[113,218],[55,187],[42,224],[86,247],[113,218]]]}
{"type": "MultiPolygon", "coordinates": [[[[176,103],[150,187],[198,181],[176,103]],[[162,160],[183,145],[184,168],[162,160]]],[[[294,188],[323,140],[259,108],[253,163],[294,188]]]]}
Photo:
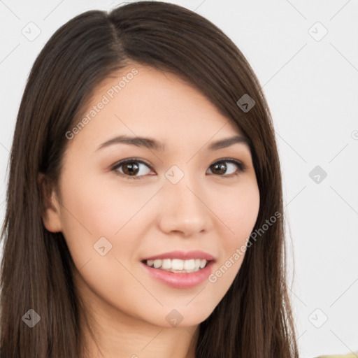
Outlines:
{"type": "Polygon", "coordinates": [[[187,80],[250,141],[259,237],[250,241],[227,294],[201,322],[196,358],[298,357],[287,294],[280,162],[262,87],[241,51],[213,23],[181,6],[141,1],[74,17],[46,43],[29,74],[1,231],[1,358],[82,357],[75,267],[62,233],[43,226],[45,194],[37,178],[43,173],[57,184],[66,132],[78,123],[96,85],[131,62],[187,80]],[[237,103],[247,95],[255,101],[250,110],[237,103]],[[273,215],[274,224],[262,229],[273,215]],[[29,310],[41,317],[32,328],[25,320],[37,316],[29,310]]]}

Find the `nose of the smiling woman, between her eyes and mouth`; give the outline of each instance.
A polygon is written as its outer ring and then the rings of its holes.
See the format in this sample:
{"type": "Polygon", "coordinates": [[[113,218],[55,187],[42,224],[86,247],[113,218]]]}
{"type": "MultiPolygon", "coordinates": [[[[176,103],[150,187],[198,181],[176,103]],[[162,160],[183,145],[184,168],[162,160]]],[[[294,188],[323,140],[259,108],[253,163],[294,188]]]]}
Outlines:
{"type": "Polygon", "coordinates": [[[166,234],[192,237],[210,230],[213,211],[208,207],[205,188],[197,180],[185,175],[176,184],[170,180],[164,183],[159,226],[166,234]]]}

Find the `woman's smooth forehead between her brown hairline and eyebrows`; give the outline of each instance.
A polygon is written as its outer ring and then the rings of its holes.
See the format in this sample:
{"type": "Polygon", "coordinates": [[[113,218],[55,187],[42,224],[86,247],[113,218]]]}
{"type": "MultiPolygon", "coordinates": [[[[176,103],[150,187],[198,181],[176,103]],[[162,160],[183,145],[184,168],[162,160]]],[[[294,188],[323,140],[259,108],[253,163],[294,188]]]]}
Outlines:
{"type": "Polygon", "coordinates": [[[97,86],[78,118],[76,141],[99,145],[115,134],[169,145],[241,135],[206,96],[173,73],[133,64],[97,86]],[[87,118],[87,120],[85,120],[87,118]],[[85,125],[81,123],[86,122],[85,125]]]}

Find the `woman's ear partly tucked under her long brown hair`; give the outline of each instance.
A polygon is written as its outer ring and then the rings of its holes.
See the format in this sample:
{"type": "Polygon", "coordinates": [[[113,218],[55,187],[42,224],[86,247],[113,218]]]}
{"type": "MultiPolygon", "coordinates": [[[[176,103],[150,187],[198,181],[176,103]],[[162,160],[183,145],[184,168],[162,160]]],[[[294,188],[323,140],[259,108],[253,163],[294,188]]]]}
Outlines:
{"type": "Polygon", "coordinates": [[[42,198],[42,220],[43,225],[48,231],[59,232],[62,231],[62,224],[60,220],[59,200],[55,189],[50,185],[46,176],[43,173],[38,174],[38,185],[41,190],[42,198]]]}

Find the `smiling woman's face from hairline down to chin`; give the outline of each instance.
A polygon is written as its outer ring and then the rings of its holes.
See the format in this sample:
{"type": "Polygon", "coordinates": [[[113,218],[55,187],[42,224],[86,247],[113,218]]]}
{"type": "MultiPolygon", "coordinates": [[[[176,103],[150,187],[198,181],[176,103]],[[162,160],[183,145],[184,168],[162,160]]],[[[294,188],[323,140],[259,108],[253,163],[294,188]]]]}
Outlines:
{"type": "Polygon", "coordinates": [[[66,134],[57,212],[48,209],[44,223],[64,234],[83,299],[111,322],[206,320],[241,267],[259,212],[248,145],[210,148],[241,131],[178,77],[139,65],[102,83],[79,122],[66,134]],[[143,263],[163,254],[148,264],[165,270],[143,263]],[[203,271],[167,271],[198,268],[206,256],[203,271]]]}

